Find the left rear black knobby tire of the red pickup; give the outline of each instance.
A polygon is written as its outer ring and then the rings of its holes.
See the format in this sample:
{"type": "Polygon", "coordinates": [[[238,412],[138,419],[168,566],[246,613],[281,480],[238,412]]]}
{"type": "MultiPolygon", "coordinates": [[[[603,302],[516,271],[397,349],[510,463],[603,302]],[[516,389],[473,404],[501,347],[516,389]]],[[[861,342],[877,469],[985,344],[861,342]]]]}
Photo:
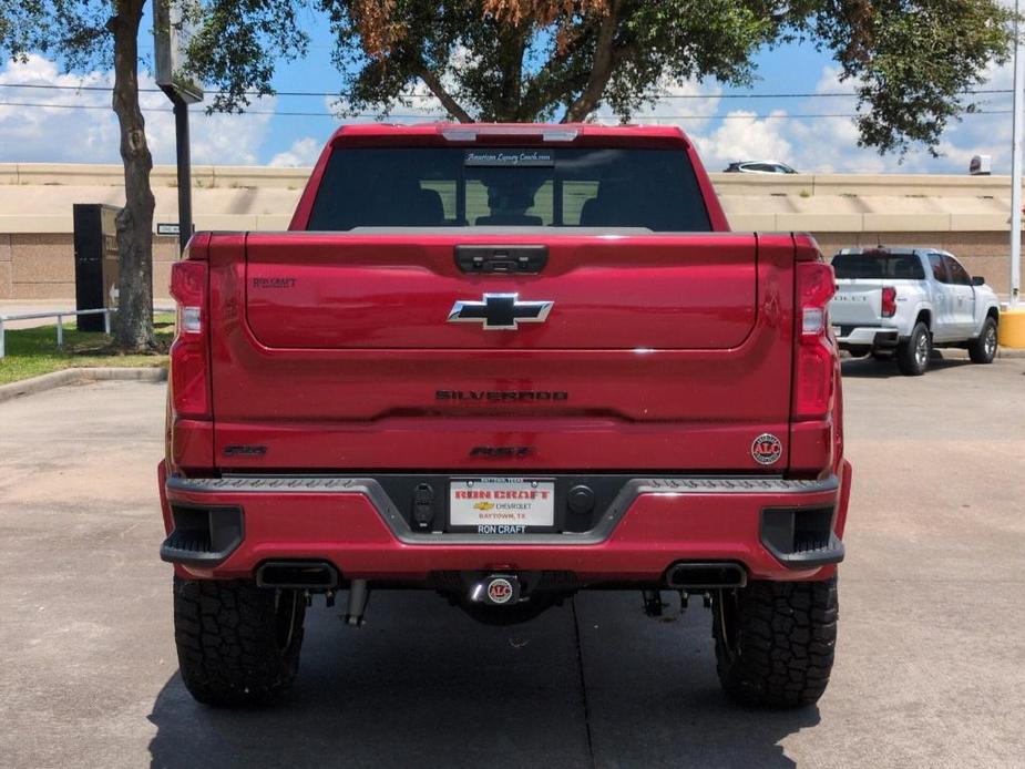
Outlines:
{"type": "Polygon", "coordinates": [[[306,602],[250,581],[174,578],[174,640],[189,694],[216,706],[267,705],[299,668],[306,602]]]}

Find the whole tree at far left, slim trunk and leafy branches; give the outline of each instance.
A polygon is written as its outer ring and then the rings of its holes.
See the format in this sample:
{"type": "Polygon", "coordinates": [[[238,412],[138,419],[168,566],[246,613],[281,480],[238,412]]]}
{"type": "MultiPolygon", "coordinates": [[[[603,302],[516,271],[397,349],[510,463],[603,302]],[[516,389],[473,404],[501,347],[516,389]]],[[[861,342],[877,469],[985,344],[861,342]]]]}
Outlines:
{"type": "MultiPolygon", "coordinates": [[[[38,52],[57,57],[71,72],[113,68],[111,106],[121,131],[125,188],[125,205],[117,215],[121,277],[114,341],[124,350],[153,347],[153,157],[139,103],[139,33],[145,2],[0,0],[0,50],[11,59],[24,60],[38,52]]],[[[230,49],[237,61],[214,79],[218,85],[229,93],[269,92],[273,61],[306,50],[306,34],[280,13],[290,7],[271,0],[192,6],[188,19],[201,28],[216,27],[230,13],[245,33],[244,44],[230,49]]],[[[215,102],[214,107],[218,105],[215,102]]]]}

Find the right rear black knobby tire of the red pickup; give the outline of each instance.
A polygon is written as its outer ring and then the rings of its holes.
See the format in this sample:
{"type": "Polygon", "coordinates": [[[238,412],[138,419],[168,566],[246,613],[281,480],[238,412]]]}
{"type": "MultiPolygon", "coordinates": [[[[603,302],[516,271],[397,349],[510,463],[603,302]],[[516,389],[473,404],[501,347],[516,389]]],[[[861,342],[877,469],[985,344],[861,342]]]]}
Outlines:
{"type": "Polygon", "coordinates": [[[713,636],[722,688],[748,706],[818,701],[833,667],[838,613],[837,577],[719,591],[713,636]]]}

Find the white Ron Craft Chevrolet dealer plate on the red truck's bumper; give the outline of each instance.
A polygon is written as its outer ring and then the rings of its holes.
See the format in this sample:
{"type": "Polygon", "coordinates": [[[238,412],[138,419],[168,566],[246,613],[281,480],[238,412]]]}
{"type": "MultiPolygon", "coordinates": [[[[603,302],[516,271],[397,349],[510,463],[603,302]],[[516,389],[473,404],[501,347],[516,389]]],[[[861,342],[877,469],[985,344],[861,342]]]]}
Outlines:
{"type": "Polygon", "coordinates": [[[555,482],[474,478],[449,486],[449,525],[480,534],[524,534],[555,525],[555,482]]]}

